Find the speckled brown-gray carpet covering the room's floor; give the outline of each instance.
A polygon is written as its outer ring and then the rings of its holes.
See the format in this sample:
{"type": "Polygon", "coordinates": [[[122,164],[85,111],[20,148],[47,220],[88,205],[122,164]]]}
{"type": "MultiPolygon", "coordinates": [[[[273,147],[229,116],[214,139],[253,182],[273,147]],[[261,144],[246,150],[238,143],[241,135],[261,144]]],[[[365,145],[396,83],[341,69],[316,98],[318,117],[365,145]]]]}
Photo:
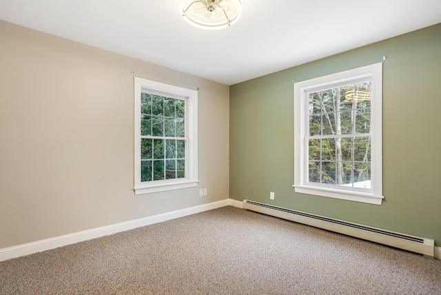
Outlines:
{"type": "Polygon", "coordinates": [[[0,294],[441,294],[441,261],[222,207],[0,262],[0,294]]]}

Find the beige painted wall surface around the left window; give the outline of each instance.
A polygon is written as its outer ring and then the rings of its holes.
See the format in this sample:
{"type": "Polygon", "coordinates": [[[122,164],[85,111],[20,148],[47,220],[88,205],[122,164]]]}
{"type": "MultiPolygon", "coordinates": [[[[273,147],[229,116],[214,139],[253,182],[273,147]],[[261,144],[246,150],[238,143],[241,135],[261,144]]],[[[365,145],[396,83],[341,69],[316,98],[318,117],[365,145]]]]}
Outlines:
{"type": "Polygon", "coordinates": [[[228,197],[227,85],[0,21],[0,249],[228,197]],[[131,72],[200,88],[198,187],[134,195],[131,72]]]}

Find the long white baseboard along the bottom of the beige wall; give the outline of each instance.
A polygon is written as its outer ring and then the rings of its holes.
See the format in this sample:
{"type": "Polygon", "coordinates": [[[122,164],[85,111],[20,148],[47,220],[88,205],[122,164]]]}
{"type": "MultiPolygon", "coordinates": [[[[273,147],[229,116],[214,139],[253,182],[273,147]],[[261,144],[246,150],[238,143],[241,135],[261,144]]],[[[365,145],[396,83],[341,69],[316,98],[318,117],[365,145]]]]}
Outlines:
{"type": "Polygon", "coordinates": [[[83,230],[82,232],[74,232],[73,234],[65,234],[63,236],[56,236],[54,238],[46,238],[41,241],[35,241],[32,243],[26,243],[13,247],[3,248],[0,249],[0,261],[6,261],[11,258],[34,254],[37,252],[43,252],[45,250],[51,250],[57,247],[63,247],[65,245],[71,245],[83,241],[88,241],[91,240],[92,238],[99,238],[101,236],[107,236],[109,234],[116,234],[117,232],[133,230],[137,227],[143,227],[145,225],[160,223],[162,221],[168,221],[170,219],[196,214],[199,212],[204,212],[219,207],[224,207],[228,205],[238,207],[239,205],[238,203],[240,203],[240,207],[241,207],[242,206],[241,202],[232,199],[225,199],[213,203],[207,203],[172,212],[166,212],[163,214],[157,214],[154,216],[139,218],[132,221],[125,221],[113,225],[96,227],[96,228],[92,228],[91,230],[83,230]]]}

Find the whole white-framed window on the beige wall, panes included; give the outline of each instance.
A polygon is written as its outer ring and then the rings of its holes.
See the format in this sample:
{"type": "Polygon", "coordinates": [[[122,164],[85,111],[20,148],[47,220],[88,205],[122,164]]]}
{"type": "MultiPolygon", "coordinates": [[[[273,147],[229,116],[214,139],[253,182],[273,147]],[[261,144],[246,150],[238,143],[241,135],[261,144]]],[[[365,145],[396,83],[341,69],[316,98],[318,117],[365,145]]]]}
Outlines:
{"type": "Polygon", "coordinates": [[[135,194],[194,187],[198,92],[135,77],[135,194]]]}

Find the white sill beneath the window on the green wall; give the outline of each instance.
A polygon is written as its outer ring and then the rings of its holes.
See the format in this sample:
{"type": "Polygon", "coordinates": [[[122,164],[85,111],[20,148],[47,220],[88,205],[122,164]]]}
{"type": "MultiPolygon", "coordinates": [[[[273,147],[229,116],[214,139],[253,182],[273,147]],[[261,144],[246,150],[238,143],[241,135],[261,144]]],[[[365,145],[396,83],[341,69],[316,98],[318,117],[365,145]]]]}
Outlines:
{"type": "Polygon", "coordinates": [[[315,196],[327,196],[329,198],[341,199],[347,201],[355,201],[361,203],[369,203],[381,205],[384,196],[377,196],[373,193],[355,192],[353,190],[338,190],[323,187],[313,187],[309,185],[293,185],[294,191],[301,194],[313,194],[315,196]]]}

